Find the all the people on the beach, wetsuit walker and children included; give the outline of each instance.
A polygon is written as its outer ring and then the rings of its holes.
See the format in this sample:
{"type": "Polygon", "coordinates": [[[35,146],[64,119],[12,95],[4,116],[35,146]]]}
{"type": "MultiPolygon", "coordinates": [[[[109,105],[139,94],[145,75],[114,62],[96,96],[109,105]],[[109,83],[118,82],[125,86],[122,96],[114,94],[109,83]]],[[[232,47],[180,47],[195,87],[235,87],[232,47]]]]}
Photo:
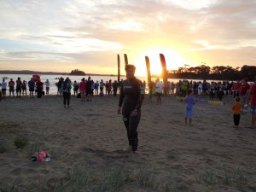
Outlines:
{"type": "MultiPolygon", "coordinates": [[[[69,108],[70,97],[73,90],[73,95],[81,98],[81,102],[90,102],[93,95],[96,96],[117,96],[119,90],[119,108],[118,113],[122,113],[123,121],[127,130],[128,138],[128,150],[131,154],[136,154],[137,152],[137,126],[141,117],[141,107],[144,100],[144,93],[146,90],[146,82],[142,82],[134,76],[135,67],[128,65],[125,68],[126,77],[124,81],[117,82],[116,80],[112,82],[109,80],[107,82],[96,81],[93,79],[81,79],[80,82],[71,79],[59,79],[55,84],[57,86],[57,96],[63,96],[63,106],[64,108],[69,108]],[[105,89],[105,94],[103,90],[105,89]]],[[[3,98],[6,96],[7,87],[9,87],[9,96],[16,96],[20,98],[22,95],[26,95],[26,87],[29,88],[30,97],[33,98],[34,92],[41,98],[44,95],[44,85],[46,90],[46,95],[49,95],[49,80],[47,79],[44,83],[40,79],[35,81],[31,79],[26,83],[25,80],[21,81],[18,78],[16,81],[13,79],[9,80],[9,83],[3,82],[0,84],[2,87],[3,98]]],[[[148,100],[152,100],[152,96],[156,96],[157,104],[161,104],[161,96],[163,95],[173,95],[182,96],[186,103],[184,120],[185,124],[192,125],[192,115],[193,108],[196,100],[201,98],[209,97],[213,100],[214,97],[219,101],[222,101],[224,96],[230,96],[234,98],[234,103],[232,104],[234,125],[238,128],[240,122],[240,114],[243,111],[247,111],[248,106],[250,106],[250,113],[252,115],[251,125],[249,128],[255,128],[256,122],[256,76],[254,83],[248,84],[247,79],[241,79],[241,81],[236,82],[207,82],[206,80],[201,81],[188,81],[179,80],[177,84],[173,82],[163,83],[160,79],[151,81],[148,83],[148,100]]]]}

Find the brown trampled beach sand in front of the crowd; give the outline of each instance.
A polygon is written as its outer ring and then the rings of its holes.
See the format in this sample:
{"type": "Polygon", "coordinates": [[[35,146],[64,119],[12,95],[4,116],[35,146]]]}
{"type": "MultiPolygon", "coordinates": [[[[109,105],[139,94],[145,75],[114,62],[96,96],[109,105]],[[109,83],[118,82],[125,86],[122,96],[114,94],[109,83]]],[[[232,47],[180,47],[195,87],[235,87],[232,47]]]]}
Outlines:
{"type": "Polygon", "coordinates": [[[231,97],[225,105],[195,105],[184,124],[184,102],[163,96],[143,103],[139,147],[127,157],[119,97],[94,96],[71,108],[62,98],[8,98],[0,102],[0,189],[4,191],[256,191],[256,130],[250,114],[233,128],[231,97]],[[16,148],[16,138],[26,138],[16,148]],[[50,162],[32,162],[48,150],[50,162]],[[80,180],[79,180],[80,179],[80,180]],[[85,182],[87,181],[87,182],[85,182]],[[24,191],[24,190],[23,190],[24,191]]]}

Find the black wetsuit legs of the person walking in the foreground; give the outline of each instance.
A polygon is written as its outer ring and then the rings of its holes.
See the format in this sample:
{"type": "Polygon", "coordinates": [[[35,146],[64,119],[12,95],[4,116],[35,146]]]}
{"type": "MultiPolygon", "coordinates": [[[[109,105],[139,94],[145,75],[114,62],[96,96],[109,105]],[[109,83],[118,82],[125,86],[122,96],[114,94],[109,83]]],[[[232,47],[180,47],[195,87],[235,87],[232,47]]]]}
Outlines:
{"type": "Polygon", "coordinates": [[[125,123],[127,137],[129,145],[132,146],[133,151],[137,151],[137,126],[139,125],[141,119],[141,110],[137,111],[137,116],[131,117],[130,113],[124,114],[123,113],[123,121],[125,123]]]}

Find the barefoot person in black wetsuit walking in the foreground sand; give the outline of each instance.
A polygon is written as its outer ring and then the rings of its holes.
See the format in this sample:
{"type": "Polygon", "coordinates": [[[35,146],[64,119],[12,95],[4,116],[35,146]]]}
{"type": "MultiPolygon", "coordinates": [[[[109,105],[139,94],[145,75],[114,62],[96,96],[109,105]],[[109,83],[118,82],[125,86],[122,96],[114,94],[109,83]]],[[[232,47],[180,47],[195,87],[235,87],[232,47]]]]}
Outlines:
{"type": "Polygon", "coordinates": [[[126,80],[120,87],[118,113],[123,114],[123,121],[127,130],[129,141],[129,152],[135,154],[137,151],[138,137],[137,126],[141,119],[141,106],[144,100],[143,82],[134,76],[136,67],[125,66],[126,80]]]}

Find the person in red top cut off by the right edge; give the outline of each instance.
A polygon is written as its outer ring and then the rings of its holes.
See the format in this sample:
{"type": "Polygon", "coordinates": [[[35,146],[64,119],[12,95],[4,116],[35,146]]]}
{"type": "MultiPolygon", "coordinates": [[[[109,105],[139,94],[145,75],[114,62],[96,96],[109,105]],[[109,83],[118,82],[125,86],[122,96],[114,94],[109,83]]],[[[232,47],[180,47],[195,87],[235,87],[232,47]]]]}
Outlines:
{"type": "Polygon", "coordinates": [[[254,77],[254,84],[252,84],[251,90],[249,91],[247,103],[251,105],[250,111],[252,114],[251,125],[248,126],[247,128],[255,129],[255,123],[256,123],[256,76],[254,77]]]}

